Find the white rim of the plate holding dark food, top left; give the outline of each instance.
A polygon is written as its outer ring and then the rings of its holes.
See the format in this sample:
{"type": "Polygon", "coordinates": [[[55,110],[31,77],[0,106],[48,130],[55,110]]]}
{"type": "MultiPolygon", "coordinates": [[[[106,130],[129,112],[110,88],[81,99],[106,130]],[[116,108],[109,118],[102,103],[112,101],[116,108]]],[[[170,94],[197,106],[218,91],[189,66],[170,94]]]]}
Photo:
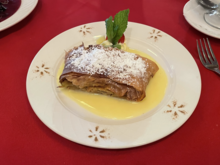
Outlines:
{"type": "Polygon", "coordinates": [[[37,5],[38,0],[21,0],[19,9],[8,19],[0,22],[0,31],[5,30],[27,17],[37,5]]]}

